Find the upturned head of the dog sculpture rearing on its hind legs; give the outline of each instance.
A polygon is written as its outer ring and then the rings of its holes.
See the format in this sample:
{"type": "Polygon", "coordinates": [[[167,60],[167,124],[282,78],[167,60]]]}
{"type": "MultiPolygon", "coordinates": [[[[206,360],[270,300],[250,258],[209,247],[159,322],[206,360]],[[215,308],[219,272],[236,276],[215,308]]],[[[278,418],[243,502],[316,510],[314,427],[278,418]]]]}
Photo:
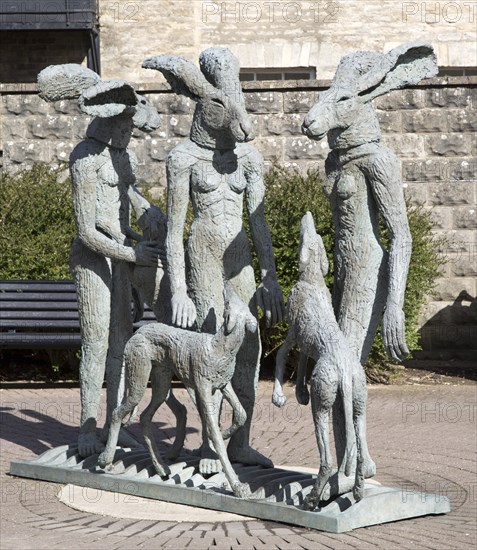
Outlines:
{"type": "MultiPolygon", "coordinates": [[[[328,273],[328,268],[328,258],[323,239],[316,232],[311,212],[307,212],[301,219],[299,270],[303,273],[311,269],[314,275],[324,277],[328,273]]],[[[313,278],[315,281],[319,280],[319,277],[313,276],[313,278]]]]}

